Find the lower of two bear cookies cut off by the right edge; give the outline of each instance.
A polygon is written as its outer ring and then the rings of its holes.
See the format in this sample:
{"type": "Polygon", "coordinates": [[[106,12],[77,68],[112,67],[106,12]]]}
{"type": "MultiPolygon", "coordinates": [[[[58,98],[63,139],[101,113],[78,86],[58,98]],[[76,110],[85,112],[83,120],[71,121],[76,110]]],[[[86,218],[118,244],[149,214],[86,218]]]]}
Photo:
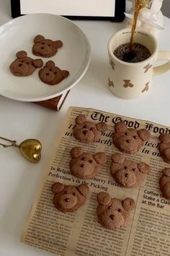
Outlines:
{"type": "Polygon", "coordinates": [[[163,197],[170,200],[170,168],[164,168],[163,174],[159,179],[159,186],[163,197]]]}

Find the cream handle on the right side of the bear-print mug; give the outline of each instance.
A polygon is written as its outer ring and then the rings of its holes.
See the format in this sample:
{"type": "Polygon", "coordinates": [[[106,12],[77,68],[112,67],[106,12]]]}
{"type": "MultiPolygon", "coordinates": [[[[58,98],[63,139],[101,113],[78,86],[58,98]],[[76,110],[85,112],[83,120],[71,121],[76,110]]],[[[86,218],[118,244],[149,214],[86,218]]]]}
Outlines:
{"type": "MultiPolygon", "coordinates": [[[[158,51],[156,61],[160,60],[170,60],[170,51],[158,51]]],[[[153,67],[153,75],[162,74],[170,69],[170,61],[167,61],[165,64],[162,64],[158,67],[153,67]]]]}

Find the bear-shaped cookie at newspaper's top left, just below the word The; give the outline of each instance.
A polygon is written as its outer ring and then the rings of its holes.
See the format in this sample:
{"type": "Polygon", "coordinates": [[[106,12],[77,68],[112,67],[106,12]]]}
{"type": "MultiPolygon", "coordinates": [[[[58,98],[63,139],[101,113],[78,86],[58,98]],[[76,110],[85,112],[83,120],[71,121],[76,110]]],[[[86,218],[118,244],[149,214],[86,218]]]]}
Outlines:
{"type": "Polygon", "coordinates": [[[102,132],[107,130],[106,123],[99,122],[94,124],[92,121],[87,121],[84,115],[76,116],[75,122],[76,126],[73,128],[73,135],[79,142],[97,142],[102,132]]]}

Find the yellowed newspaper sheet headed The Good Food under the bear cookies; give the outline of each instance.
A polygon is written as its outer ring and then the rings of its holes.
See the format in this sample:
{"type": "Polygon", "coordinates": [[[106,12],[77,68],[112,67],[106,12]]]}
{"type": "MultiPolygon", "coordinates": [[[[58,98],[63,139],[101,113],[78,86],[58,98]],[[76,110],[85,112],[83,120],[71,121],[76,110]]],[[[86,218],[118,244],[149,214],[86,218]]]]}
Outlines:
{"type": "Polygon", "coordinates": [[[162,197],[158,184],[162,169],[169,166],[158,152],[158,136],[163,132],[170,134],[170,127],[91,108],[70,107],[52,161],[25,222],[21,242],[60,256],[169,256],[170,201],[162,197]],[[108,130],[102,133],[99,141],[86,144],[73,137],[74,121],[78,114],[86,115],[89,121],[107,123],[108,130]],[[145,128],[151,132],[151,139],[138,153],[125,154],[127,158],[144,161],[151,166],[151,174],[137,188],[120,187],[109,171],[110,155],[120,153],[112,144],[117,121],[124,121],[128,127],[145,128]],[[81,145],[86,152],[104,151],[107,154],[107,163],[93,179],[78,179],[70,174],[70,151],[76,145],[81,145]],[[74,213],[61,213],[53,205],[51,186],[54,182],[88,185],[90,193],[85,205],[74,213]],[[126,227],[109,230],[98,223],[97,194],[102,191],[109,192],[112,197],[132,197],[135,200],[136,207],[126,227]]]}

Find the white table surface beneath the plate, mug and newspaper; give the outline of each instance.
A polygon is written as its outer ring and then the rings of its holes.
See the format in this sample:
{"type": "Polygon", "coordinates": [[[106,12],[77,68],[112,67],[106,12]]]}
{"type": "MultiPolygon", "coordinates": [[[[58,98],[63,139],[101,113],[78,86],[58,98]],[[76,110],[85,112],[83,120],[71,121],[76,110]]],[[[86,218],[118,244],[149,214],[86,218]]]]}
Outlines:
{"type": "MultiPolygon", "coordinates": [[[[0,0],[0,25],[11,19],[9,0],[0,0]]],[[[37,164],[24,160],[17,148],[0,147],[1,256],[53,255],[20,243],[19,236],[69,106],[97,108],[170,126],[170,72],[154,77],[153,90],[146,97],[138,100],[117,98],[107,87],[107,41],[124,24],[109,21],[75,22],[89,38],[91,63],[82,80],[69,93],[61,111],[0,96],[0,136],[17,142],[27,138],[42,142],[42,159],[37,164]]],[[[170,51],[170,20],[166,17],[164,27],[158,45],[160,50],[170,51]]]]}

